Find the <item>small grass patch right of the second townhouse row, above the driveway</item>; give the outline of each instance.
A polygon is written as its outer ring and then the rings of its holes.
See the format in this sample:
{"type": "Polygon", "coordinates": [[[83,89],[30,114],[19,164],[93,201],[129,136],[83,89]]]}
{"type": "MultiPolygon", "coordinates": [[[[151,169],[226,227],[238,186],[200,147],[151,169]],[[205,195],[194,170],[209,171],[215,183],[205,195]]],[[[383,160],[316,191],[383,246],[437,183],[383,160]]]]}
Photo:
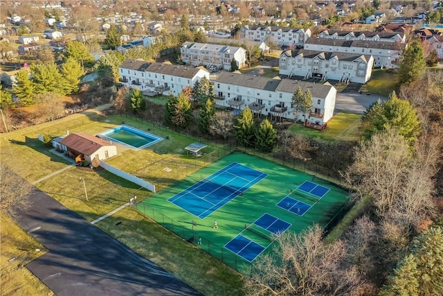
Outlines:
{"type": "Polygon", "coordinates": [[[361,87],[361,92],[388,96],[398,86],[396,72],[392,69],[374,69],[371,78],[361,87]]]}

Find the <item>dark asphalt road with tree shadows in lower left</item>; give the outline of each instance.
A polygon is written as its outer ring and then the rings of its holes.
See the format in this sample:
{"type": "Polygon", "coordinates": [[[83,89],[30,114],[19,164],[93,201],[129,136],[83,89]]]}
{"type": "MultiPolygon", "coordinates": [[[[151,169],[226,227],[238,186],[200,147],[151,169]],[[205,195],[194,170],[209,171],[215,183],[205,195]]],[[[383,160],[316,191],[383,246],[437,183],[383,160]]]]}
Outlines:
{"type": "Polygon", "coordinates": [[[31,200],[17,222],[49,252],[26,267],[56,295],[201,295],[46,193],[31,200]]]}

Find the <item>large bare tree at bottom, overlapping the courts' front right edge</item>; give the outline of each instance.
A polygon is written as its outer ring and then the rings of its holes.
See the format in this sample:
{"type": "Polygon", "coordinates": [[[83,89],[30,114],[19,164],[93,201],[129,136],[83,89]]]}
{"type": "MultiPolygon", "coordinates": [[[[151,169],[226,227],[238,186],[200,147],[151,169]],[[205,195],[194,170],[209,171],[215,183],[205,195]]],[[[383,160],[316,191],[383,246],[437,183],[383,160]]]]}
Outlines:
{"type": "Polygon", "coordinates": [[[245,280],[247,295],[349,295],[361,283],[356,268],[343,265],[342,241],[323,245],[314,225],[300,234],[285,232],[272,254],[255,261],[245,280]]]}

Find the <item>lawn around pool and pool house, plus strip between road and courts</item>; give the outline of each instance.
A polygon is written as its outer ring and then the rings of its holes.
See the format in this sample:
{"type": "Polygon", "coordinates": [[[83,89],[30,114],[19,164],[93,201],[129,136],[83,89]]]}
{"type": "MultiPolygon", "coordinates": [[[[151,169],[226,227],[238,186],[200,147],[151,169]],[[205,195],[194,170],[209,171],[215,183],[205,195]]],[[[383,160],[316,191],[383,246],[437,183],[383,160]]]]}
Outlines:
{"type": "MultiPolygon", "coordinates": [[[[153,182],[157,189],[180,180],[227,153],[227,150],[220,145],[208,143],[207,155],[195,159],[186,155],[183,148],[201,139],[157,128],[136,119],[120,116],[105,117],[88,110],[83,114],[2,134],[0,161],[14,168],[26,180],[33,182],[69,164],[42,146],[37,139],[38,134],[60,136],[66,134],[66,130],[96,134],[114,128],[122,121],[134,128],[150,129],[153,134],[165,137],[163,141],[139,150],[138,153],[127,148],[118,148],[120,155],[109,161],[110,164],[119,166],[128,173],[153,182]],[[164,171],[165,167],[172,168],[173,173],[164,171]]],[[[129,196],[137,195],[138,200],[143,200],[152,195],[151,192],[106,171],[94,173],[74,167],[39,182],[36,186],[88,221],[120,207],[128,201],[129,196]],[[80,177],[84,177],[88,201],[84,192],[80,190],[82,188],[80,177]]],[[[6,227],[3,225],[2,223],[2,227],[6,227]]],[[[242,294],[242,277],[237,272],[149,218],[145,218],[136,209],[125,208],[118,214],[100,221],[97,226],[205,295],[242,294]],[[116,227],[116,221],[123,223],[116,227]]],[[[24,280],[19,279],[19,281],[24,280]]]]}

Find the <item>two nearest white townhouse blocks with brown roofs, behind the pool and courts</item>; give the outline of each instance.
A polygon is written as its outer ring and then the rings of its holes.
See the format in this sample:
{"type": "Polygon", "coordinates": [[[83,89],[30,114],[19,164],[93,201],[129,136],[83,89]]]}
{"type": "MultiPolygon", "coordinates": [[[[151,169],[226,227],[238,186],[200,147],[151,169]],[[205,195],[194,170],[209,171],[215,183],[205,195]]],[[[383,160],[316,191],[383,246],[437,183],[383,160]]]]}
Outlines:
{"type": "MultiPolygon", "coordinates": [[[[193,87],[201,78],[209,77],[205,69],[139,60],[126,60],[118,71],[123,85],[141,89],[147,95],[172,93],[178,96],[184,87],[193,87]]],[[[334,114],[336,89],[332,85],[226,71],[212,82],[219,106],[244,110],[247,105],[255,114],[302,120],[314,127],[323,125],[334,114]],[[309,89],[313,98],[312,110],[307,114],[295,114],[291,106],[292,96],[299,86],[303,92],[309,89]]]]}

